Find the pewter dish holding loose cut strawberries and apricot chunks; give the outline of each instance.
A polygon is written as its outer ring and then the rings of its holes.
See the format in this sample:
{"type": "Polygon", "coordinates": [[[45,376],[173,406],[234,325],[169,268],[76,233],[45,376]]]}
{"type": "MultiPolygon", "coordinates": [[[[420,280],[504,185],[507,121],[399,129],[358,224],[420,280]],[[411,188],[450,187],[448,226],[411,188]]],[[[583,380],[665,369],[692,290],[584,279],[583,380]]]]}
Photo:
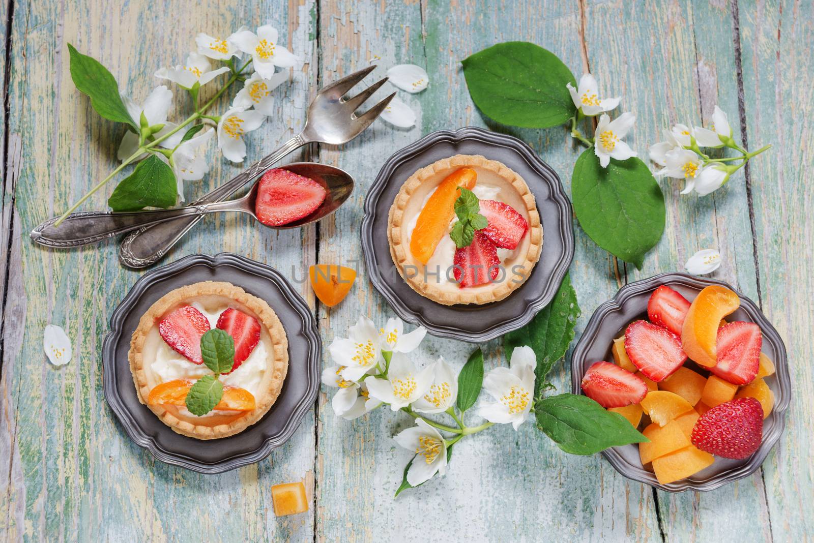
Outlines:
{"type": "MultiPolygon", "coordinates": [[[[724,281],[690,276],[680,272],[663,273],[659,276],[625,285],[622,289],[619,289],[614,298],[597,307],[582,337],[580,337],[580,341],[575,346],[571,356],[571,381],[574,393],[584,393],[582,380],[586,371],[594,363],[597,363],[597,361],[614,362],[612,353],[614,340],[625,334],[628,324],[632,323],[632,321],[648,318],[650,296],[661,285],[667,285],[667,287],[680,293],[689,302],[692,302],[702,289],[710,285],[720,285],[732,289],[724,281]]],[[[650,484],[667,492],[683,492],[689,489],[696,491],[717,489],[724,484],[749,476],[757,471],[769,451],[780,439],[786,424],[786,411],[791,399],[786,346],[783,345],[777,330],[766,319],[755,302],[739,293],[737,295],[740,297],[740,306],[731,315],[727,316],[727,320],[757,324],[763,334],[761,351],[768,358],[771,358],[775,367],[774,373],[764,378],[765,383],[768,384],[774,395],[774,406],[763,421],[763,439],[759,448],[754,454],[737,460],[716,456],[714,463],[710,466],[694,473],[692,476],[667,484],[659,483],[654,472],[642,465],[637,445],[624,445],[603,451],[602,454],[608,462],[623,476],[650,484]]],[[[686,367],[706,373],[703,371],[706,368],[697,366],[689,360],[686,367]]]]}

